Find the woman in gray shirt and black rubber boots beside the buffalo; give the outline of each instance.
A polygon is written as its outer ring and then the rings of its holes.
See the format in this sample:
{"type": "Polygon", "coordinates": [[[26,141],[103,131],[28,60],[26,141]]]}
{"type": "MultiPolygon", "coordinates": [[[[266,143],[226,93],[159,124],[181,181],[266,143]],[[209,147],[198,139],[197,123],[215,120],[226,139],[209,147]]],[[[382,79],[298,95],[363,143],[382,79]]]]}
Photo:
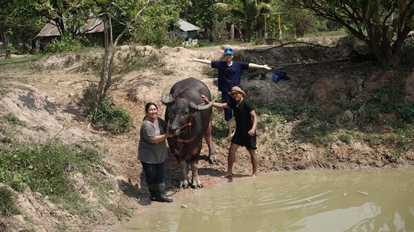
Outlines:
{"type": "Polygon", "coordinates": [[[166,139],[172,137],[172,134],[166,133],[167,123],[157,116],[158,107],[155,103],[146,103],[145,112],[139,131],[138,160],[145,172],[150,200],[172,202],[165,195],[168,156],[166,139]]]}

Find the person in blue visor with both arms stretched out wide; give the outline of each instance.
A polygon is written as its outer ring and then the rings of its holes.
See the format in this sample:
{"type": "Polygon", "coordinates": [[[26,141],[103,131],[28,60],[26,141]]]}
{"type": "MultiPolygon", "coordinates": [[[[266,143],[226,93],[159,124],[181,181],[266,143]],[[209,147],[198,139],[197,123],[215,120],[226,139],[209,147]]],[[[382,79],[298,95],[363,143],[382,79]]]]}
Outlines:
{"type": "MultiPolygon", "coordinates": [[[[241,86],[240,77],[242,76],[242,70],[248,70],[250,68],[271,70],[272,68],[268,65],[257,65],[255,63],[233,61],[234,50],[232,48],[225,47],[222,47],[222,49],[224,50],[224,61],[210,61],[206,59],[195,59],[194,57],[192,57],[190,61],[205,63],[211,65],[212,68],[217,68],[219,71],[217,83],[219,85],[219,91],[221,92],[221,102],[230,103],[233,100],[229,98],[227,92],[229,92],[233,86],[241,86]]],[[[224,119],[227,122],[229,137],[233,134],[231,127],[231,118],[232,110],[230,108],[224,109],[224,119]]]]}

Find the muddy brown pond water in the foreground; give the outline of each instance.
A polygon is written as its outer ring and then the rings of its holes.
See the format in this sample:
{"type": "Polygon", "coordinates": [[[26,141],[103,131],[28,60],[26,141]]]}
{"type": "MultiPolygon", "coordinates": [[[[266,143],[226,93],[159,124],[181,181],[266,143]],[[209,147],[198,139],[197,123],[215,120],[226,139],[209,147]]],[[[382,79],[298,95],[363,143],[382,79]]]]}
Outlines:
{"type": "Polygon", "coordinates": [[[414,231],[414,169],[233,178],[153,202],[114,231],[414,231]]]}

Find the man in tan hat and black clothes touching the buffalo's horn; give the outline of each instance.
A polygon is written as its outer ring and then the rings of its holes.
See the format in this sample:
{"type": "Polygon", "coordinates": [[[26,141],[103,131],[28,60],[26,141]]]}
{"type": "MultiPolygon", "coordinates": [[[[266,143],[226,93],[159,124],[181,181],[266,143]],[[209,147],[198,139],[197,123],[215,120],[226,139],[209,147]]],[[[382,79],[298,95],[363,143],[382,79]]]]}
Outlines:
{"type": "MultiPolygon", "coordinates": [[[[255,108],[246,99],[246,93],[238,87],[233,86],[228,94],[234,101],[230,103],[213,103],[213,107],[217,108],[231,108],[235,113],[236,131],[235,135],[231,139],[230,148],[228,149],[228,169],[227,173],[222,177],[233,176],[233,163],[236,158],[236,151],[240,146],[246,147],[250,154],[250,160],[253,165],[252,176],[257,176],[257,155],[256,155],[256,127],[257,127],[257,115],[255,108]]],[[[210,103],[210,100],[204,95],[201,95],[206,103],[210,103]]]]}

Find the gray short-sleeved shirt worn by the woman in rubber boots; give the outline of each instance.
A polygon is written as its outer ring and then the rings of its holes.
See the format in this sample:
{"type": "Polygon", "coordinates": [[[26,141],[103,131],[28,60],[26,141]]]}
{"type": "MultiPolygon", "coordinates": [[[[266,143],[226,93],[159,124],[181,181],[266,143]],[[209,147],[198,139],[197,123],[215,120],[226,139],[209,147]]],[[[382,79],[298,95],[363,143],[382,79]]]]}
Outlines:
{"type": "Polygon", "coordinates": [[[159,143],[151,143],[155,136],[166,134],[166,121],[157,117],[152,123],[147,117],[142,122],[139,135],[141,139],[138,145],[138,160],[150,164],[159,164],[167,158],[166,140],[159,143]]]}

